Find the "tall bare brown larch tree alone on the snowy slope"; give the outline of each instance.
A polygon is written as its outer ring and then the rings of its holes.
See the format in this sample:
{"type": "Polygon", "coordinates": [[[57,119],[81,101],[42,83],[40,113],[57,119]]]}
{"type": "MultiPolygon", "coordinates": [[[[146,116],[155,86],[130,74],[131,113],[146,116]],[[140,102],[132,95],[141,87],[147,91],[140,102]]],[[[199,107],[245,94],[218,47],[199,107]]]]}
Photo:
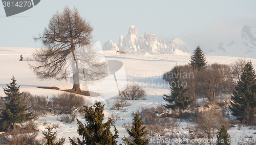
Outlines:
{"type": "Polygon", "coordinates": [[[70,10],[66,7],[62,13],[56,12],[50,19],[48,28],[45,28],[38,38],[34,38],[46,47],[33,54],[36,65],[31,67],[37,78],[67,79],[68,56],[73,56],[71,68],[74,91],[81,92],[79,83],[81,79],[94,81],[102,78],[104,72],[101,68],[105,64],[100,63],[97,59],[98,54],[93,49],[92,31],[93,27],[79,15],[76,8],[70,10]]]}

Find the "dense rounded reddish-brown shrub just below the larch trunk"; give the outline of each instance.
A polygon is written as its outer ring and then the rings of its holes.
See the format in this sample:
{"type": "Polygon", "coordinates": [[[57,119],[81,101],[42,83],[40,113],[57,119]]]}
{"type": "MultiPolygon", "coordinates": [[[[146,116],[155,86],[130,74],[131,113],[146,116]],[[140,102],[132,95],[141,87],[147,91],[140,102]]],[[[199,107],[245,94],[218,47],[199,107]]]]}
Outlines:
{"type": "Polygon", "coordinates": [[[57,114],[73,114],[84,105],[82,96],[73,93],[61,93],[52,97],[52,109],[57,114]]]}

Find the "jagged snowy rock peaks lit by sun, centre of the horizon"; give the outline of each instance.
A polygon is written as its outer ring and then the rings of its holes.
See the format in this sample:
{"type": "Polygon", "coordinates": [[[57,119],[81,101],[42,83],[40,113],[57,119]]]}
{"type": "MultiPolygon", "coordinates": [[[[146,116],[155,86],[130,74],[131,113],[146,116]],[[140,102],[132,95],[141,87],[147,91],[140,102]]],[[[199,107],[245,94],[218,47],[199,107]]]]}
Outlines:
{"type": "MultiPolygon", "coordinates": [[[[184,43],[177,41],[177,43],[184,43]]],[[[178,49],[186,51],[185,43],[176,44],[178,49]],[[181,47],[181,48],[179,48],[181,47]]],[[[138,31],[134,25],[129,28],[126,38],[123,35],[119,36],[118,43],[115,44],[109,40],[104,43],[103,50],[119,50],[128,54],[175,54],[175,44],[173,42],[166,43],[165,41],[157,41],[157,36],[154,33],[144,33],[144,37],[140,36],[138,40],[138,31]]]]}

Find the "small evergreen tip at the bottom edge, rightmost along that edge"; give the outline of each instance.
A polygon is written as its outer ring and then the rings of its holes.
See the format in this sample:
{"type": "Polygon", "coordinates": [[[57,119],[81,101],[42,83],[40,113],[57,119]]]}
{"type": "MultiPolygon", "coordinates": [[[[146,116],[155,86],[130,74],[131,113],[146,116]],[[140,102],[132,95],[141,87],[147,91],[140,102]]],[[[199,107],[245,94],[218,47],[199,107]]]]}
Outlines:
{"type": "Polygon", "coordinates": [[[227,133],[227,128],[224,125],[222,125],[217,133],[216,145],[230,145],[230,142],[228,143],[228,138],[230,138],[230,136],[227,133]]]}

